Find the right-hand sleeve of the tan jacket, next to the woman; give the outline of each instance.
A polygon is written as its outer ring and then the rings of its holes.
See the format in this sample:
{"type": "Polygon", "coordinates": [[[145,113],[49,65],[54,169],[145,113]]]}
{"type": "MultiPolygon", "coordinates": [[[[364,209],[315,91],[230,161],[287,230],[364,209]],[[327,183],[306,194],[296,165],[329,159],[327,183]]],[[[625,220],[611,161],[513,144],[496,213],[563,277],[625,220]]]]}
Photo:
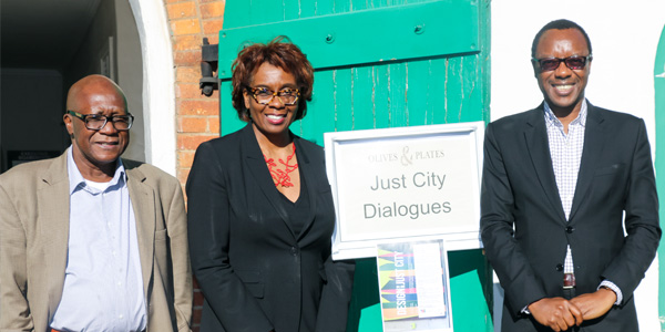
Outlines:
{"type": "Polygon", "coordinates": [[[173,194],[166,227],[170,237],[171,260],[173,266],[173,292],[177,331],[191,331],[192,319],[192,268],[187,247],[187,216],[183,190],[177,180],[173,180],[173,194]]]}

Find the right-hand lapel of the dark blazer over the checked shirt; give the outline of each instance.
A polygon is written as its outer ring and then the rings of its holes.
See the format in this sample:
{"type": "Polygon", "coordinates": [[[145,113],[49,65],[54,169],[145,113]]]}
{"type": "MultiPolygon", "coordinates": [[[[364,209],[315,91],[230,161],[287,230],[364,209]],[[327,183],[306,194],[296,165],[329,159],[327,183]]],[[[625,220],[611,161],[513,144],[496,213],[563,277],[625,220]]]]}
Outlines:
{"type": "Polygon", "coordinates": [[[593,173],[597,168],[598,157],[603,152],[604,129],[603,116],[591,103],[586,103],[586,127],[584,128],[584,148],[582,149],[582,160],[580,163],[580,173],[577,174],[577,184],[575,186],[575,196],[571,207],[570,220],[574,220],[573,216],[580,208],[582,200],[586,195],[586,190],[593,180],[593,173]]]}

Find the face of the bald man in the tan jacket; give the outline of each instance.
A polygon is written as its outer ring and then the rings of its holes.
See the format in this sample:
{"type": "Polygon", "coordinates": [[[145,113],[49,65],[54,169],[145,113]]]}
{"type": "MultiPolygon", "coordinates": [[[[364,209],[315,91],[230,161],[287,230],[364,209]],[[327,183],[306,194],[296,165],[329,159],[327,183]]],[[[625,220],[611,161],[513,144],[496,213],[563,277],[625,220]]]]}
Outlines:
{"type": "MultiPolygon", "coordinates": [[[[122,92],[103,76],[88,76],[75,83],[68,95],[68,110],[83,115],[127,114],[122,92]]],[[[130,143],[129,131],[115,129],[111,121],[103,128],[91,131],[85,127],[83,120],[71,114],[64,115],[64,124],[72,137],[72,154],[81,175],[89,178],[90,174],[102,170],[112,176],[115,160],[130,143]]]]}

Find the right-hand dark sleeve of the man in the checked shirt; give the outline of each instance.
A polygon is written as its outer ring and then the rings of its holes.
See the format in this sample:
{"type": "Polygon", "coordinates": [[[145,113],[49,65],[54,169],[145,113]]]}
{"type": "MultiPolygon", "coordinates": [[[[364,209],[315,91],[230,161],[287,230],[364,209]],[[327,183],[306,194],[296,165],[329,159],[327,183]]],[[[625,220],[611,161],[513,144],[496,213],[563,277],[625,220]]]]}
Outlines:
{"type": "MultiPolygon", "coordinates": [[[[602,277],[616,284],[626,303],[651,266],[661,240],[658,196],[644,121],[640,121],[625,200],[627,237],[602,277]]],[[[622,303],[622,304],[623,304],[622,303]]]]}

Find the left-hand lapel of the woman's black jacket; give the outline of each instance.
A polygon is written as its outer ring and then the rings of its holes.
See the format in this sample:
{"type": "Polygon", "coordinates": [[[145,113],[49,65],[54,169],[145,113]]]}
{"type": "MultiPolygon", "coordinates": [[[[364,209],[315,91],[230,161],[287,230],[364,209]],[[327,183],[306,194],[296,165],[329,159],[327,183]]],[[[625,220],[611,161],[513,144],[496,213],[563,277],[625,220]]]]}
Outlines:
{"type": "Polygon", "coordinates": [[[243,128],[243,136],[241,144],[242,152],[244,154],[243,160],[249,173],[254,177],[257,186],[260,188],[262,193],[266,196],[277,215],[282,218],[288,231],[291,234],[294,238],[296,238],[296,234],[290,226],[289,217],[286,210],[284,209],[284,205],[282,204],[282,197],[279,197],[279,191],[275,189],[275,185],[273,181],[273,177],[268,172],[266,166],[266,162],[264,159],[263,153],[258,147],[258,142],[256,141],[256,136],[254,135],[254,128],[252,127],[252,122],[248,123],[243,128]]]}

